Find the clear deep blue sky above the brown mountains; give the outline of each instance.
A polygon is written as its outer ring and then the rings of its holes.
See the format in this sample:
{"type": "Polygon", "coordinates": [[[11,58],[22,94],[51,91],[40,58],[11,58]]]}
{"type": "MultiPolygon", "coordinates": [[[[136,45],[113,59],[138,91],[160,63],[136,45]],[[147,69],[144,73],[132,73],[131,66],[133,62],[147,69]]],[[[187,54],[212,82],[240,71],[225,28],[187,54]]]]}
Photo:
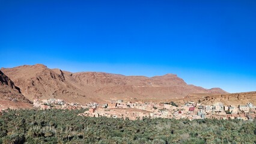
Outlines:
{"type": "Polygon", "coordinates": [[[178,74],[256,91],[256,1],[0,0],[0,67],[178,74]]]}

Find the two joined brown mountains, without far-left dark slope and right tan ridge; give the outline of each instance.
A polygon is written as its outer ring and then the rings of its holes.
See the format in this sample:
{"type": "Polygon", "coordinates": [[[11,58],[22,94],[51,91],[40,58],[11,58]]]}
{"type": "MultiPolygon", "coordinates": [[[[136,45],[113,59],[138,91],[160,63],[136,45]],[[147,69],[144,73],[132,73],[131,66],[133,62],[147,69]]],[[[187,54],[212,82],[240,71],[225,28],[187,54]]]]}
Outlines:
{"type": "Polygon", "coordinates": [[[164,76],[123,76],[121,74],[70,73],[45,65],[1,68],[26,98],[60,98],[69,102],[102,103],[118,99],[167,100],[193,93],[227,94],[220,88],[204,89],[187,85],[175,74],[164,76]]]}

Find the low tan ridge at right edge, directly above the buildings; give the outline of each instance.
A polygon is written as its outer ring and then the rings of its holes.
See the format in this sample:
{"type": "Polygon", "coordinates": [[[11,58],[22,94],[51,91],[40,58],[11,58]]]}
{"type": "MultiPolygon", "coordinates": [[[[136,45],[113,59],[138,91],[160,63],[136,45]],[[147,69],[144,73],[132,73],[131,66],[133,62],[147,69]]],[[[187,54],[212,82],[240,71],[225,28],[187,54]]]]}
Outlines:
{"type": "Polygon", "coordinates": [[[201,101],[203,104],[222,102],[225,105],[256,104],[256,92],[240,92],[234,94],[190,94],[184,100],[201,101]]]}

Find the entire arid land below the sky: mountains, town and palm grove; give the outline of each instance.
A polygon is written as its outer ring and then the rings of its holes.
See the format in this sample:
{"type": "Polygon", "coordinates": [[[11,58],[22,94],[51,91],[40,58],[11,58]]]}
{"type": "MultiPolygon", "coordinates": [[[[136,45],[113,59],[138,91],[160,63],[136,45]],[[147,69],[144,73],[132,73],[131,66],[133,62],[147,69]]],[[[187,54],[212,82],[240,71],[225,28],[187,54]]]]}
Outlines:
{"type": "Polygon", "coordinates": [[[256,142],[256,92],[42,64],[0,74],[0,143],[256,142]]]}

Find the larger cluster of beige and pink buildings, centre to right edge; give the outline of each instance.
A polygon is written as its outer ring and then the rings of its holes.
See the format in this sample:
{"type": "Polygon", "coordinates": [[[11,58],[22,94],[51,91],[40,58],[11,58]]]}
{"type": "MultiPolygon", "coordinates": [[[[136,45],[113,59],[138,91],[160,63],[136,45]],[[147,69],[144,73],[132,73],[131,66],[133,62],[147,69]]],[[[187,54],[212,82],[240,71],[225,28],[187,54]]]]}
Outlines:
{"type": "MultiPolygon", "coordinates": [[[[87,105],[88,106],[88,105],[87,105]]],[[[224,106],[223,103],[203,105],[189,102],[182,106],[171,103],[150,103],[137,101],[124,102],[123,100],[112,101],[101,106],[88,106],[89,110],[79,115],[108,118],[128,118],[130,120],[147,118],[174,118],[174,119],[243,119],[253,121],[256,107],[252,103],[246,105],[224,106]]]]}

